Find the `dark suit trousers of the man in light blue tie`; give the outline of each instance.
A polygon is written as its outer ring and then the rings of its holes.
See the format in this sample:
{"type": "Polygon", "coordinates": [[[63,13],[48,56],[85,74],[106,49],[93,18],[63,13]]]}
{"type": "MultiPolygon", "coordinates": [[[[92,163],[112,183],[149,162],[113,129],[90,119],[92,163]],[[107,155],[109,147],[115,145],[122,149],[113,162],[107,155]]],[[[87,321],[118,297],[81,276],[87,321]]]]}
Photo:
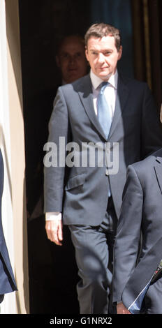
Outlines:
{"type": "Polygon", "coordinates": [[[112,197],[101,225],[69,225],[81,278],[77,285],[81,314],[114,312],[110,290],[116,227],[112,197]]]}

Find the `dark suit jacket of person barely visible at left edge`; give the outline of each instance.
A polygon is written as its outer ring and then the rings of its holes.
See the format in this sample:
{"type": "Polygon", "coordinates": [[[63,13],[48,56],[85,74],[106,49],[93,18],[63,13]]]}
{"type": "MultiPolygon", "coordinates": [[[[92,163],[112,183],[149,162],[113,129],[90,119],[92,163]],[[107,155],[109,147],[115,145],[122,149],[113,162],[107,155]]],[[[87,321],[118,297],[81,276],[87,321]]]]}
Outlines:
{"type": "Polygon", "coordinates": [[[13,269],[10,265],[8,249],[6,246],[1,222],[1,197],[3,193],[3,158],[0,150],[0,294],[17,290],[13,269]]]}

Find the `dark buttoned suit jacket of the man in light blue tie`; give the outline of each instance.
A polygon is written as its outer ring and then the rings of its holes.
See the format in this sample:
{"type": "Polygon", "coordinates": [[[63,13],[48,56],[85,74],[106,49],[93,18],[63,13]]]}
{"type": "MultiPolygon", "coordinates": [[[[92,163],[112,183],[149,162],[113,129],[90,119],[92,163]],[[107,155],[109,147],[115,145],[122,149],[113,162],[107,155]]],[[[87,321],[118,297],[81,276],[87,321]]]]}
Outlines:
{"type": "MultiPolygon", "coordinates": [[[[105,216],[110,188],[119,217],[126,167],[162,145],[161,128],[147,84],[119,76],[115,114],[108,140],[94,112],[89,75],[59,87],[50,119],[49,142],[119,142],[119,172],[108,176],[98,167],[45,167],[45,212],[61,211],[65,224],[98,225],[105,216]]],[[[112,147],[110,149],[112,152],[112,147]]],[[[59,152],[59,151],[58,151],[59,152]]],[[[82,154],[82,149],[80,150],[82,154]]],[[[64,154],[63,154],[64,155],[64,154]]]]}

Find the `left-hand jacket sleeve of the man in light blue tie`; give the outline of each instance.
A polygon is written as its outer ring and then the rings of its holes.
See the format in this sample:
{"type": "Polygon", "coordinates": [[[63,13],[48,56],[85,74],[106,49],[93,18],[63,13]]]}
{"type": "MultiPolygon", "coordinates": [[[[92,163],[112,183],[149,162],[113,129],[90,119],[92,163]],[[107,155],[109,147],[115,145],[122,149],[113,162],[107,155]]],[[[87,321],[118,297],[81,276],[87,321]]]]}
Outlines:
{"type": "Polygon", "coordinates": [[[68,109],[61,87],[54,99],[49,122],[49,137],[44,150],[44,211],[61,212],[68,142],[68,109]]]}

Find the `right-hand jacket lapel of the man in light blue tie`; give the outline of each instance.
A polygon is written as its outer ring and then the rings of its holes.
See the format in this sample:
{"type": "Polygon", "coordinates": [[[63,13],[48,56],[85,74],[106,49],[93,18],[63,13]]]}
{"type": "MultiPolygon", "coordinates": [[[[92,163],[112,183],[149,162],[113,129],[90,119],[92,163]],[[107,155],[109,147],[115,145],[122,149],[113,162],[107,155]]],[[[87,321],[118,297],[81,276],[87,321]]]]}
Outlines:
{"type": "Polygon", "coordinates": [[[117,126],[117,123],[119,119],[121,119],[121,114],[125,109],[126,100],[128,98],[129,89],[126,87],[126,84],[121,80],[121,77],[118,77],[118,84],[117,84],[117,99],[115,104],[115,114],[112,119],[112,125],[110,128],[110,134],[109,139],[112,136],[112,133],[114,133],[115,128],[117,126]]]}

